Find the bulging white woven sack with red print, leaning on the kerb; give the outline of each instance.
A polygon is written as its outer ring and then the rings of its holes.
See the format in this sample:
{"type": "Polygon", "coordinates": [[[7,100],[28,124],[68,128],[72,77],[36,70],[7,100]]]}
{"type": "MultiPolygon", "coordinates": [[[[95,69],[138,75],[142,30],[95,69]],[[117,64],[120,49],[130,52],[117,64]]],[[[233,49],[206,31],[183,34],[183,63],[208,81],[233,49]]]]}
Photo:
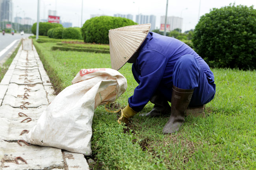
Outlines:
{"type": "Polygon", "coordinates": [[[55,97],[37,124],[24,135],[24,140],[90,155],[95,108],[115,101],[126,88],[125,77],[114,69],[81,69],[72,85],[55,97]]]}

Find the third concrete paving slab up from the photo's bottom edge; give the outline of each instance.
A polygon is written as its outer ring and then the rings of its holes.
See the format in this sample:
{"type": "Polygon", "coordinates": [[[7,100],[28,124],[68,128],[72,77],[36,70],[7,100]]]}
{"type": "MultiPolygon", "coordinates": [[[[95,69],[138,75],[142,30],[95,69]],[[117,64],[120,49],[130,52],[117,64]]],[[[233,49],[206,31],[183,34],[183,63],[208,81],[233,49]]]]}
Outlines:
{"type": "Polygon", "coordinates": [[[37,108],[21,109],[21,108],[13,108],[9,105],[2,105],[0,106],[0,117],[13,120],[13,121],[15,120],[22,121],[26,119],[25,115],[27,115],[32,120],[38,120],[41,114],[45,111],[47,107],[48,107],[47,105],[42,105],[37,108]],[[24,113],[25,115],[22,113],[24,113]]]}

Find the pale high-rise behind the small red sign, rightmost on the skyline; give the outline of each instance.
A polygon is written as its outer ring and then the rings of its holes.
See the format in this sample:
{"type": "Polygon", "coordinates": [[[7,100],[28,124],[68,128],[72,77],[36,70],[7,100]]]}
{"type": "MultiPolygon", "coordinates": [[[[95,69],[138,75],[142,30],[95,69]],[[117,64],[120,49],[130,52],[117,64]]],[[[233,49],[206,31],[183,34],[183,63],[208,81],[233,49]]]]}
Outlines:
{"type": "MultiPolygon", "coordinates": [[[[178,16],[167,16],[166,24],[170,25],[170,31],[174,29],[182,29],[183,18],[178,16]]],[[[165,16],[161,16],[160,24],[165,24],[165,16]]]]}

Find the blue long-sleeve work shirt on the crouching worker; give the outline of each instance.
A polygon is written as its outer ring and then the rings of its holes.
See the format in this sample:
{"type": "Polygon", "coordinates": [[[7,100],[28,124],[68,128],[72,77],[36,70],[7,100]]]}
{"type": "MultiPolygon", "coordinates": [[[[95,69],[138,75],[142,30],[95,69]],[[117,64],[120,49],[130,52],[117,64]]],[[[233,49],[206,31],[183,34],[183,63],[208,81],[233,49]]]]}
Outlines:
{"type": "Polygon", "coordinates": [[[129,106],[136,112],[141,111],[159,86],[171,89],[173,86],[173,68],[183,55],[193,55],[209,82],[214,76],[208,64],[184,42],[157,33],[148,33],[139,48],[139,56],[133,67],[139,74],[139,85],[129,99],[129,106]]]}

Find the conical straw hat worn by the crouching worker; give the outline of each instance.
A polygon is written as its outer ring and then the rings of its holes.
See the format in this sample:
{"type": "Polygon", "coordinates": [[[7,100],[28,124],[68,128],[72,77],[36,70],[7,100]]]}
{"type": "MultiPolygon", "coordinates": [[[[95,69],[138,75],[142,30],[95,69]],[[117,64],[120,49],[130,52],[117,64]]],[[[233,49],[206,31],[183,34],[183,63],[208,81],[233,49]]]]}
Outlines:
{"type": "Polygon", "coordinates": [[[147,37],[150,27],[151,24],[139,24],[109,30],[112,69],[119,70],[134,55],[147,37]]]}

